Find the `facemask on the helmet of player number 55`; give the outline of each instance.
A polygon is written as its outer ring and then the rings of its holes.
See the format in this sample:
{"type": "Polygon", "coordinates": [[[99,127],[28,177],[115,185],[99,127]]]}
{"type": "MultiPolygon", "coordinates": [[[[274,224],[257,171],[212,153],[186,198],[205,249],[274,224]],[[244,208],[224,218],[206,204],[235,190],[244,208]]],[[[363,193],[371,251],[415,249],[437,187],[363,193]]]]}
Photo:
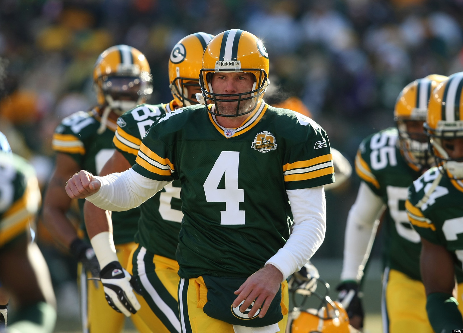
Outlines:
{"type": "Polygon", "coordinates": [[[407,163],[415,166],[417,171],[425,171],[434,163],[434,158],[429,153],[428,138],[424,132],[411,132],[408,126],[414,125],[412,122],[419,122],[422,128],[422,120],[405,119],[397,120],[397,129],[399,131],[399,148],[402,151],[407,163]]]}

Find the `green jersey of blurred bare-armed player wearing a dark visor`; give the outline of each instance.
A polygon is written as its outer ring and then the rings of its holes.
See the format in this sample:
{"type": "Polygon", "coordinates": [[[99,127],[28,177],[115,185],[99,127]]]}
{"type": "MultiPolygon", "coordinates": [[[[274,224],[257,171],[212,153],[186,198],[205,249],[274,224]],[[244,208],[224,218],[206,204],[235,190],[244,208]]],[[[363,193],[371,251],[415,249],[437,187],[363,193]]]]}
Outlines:
{"type": "MultiPolygon", "coordinates": [[[[98,108],[90,112],[79,111],[63,119],[53,134],[53,150],[68,154],[82,170],[98,175],[106,161],[113,155],[113,137],[116,124],[107,119],[106,130],[98,134],[100,114],[98,108]]],[[[81,228],[85,231],[83,205],[85,199],[79,199],[81,209],[81,228]]],[[[113,212],[113,235],[115,244],[133,242],[137,232],[140,209],[125,212],[113,212]]]]}

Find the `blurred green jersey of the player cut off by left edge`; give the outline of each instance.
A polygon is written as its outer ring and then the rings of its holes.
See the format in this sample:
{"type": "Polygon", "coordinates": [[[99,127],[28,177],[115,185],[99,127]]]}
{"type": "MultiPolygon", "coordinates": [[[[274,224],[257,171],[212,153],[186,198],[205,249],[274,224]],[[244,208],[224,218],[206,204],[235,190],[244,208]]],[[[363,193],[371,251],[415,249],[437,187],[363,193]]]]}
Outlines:
{"type": "Polygon", "coordinates": [[[0,152],[0,250],[28,232],[40,205],[32,166],[14,154],[0,152]]]}

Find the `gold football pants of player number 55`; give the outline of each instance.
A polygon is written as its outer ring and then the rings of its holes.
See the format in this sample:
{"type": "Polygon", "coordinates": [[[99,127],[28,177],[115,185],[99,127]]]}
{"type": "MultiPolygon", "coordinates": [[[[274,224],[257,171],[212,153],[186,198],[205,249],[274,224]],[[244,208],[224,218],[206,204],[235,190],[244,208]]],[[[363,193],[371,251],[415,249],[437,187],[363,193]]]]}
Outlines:
{"type": "MultiPolygon", "coordinates": [[[[463,283],[458,285],[458,308],[463,313],[463,283]]],[[[426,312],[425,286],[386,267],[382,288],[383,333],[433,333],[426,312]]]]}

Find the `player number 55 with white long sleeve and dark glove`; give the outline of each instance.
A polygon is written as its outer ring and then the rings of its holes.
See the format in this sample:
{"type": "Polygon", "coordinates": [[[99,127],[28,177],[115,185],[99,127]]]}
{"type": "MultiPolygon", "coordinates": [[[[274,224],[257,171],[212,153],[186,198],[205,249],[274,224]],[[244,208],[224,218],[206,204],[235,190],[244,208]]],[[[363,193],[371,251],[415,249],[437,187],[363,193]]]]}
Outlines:
{"type": "MultiPolygon", "coordinates": [[[[355,161],[362,182],[350,209],[345,239],[339,300],[347,309],[350,323],[363,327],[359,284],[375,220],[385,208],[385,270],[382,290],[383,332],[432,332],[425,311],[426,297],[419,272],[419,234],[407,219],[404,203],[407,187],[430,167],[423,122],[432,89],[447,79],[429,75],[408,84],[394,108],[396,128],[365,138],[355,161]]],[[[460,282],[463,280],[460,279],[460,282]]]]}

